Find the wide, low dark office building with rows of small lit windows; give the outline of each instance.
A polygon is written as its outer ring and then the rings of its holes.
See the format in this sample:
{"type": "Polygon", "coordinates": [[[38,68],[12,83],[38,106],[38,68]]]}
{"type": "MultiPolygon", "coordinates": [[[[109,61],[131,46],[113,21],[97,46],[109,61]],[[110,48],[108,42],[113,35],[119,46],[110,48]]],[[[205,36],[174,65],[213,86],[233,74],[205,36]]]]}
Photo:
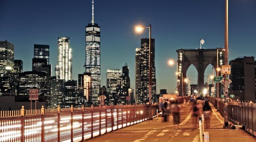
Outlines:
{"type": "Polygon", "coordinates": [[[46,96],[50,105],[51,79],[44,72],[25,71],[19,73],[18,95],[29,95],[29,89],[38,89],[38,95],[46,96]]]}

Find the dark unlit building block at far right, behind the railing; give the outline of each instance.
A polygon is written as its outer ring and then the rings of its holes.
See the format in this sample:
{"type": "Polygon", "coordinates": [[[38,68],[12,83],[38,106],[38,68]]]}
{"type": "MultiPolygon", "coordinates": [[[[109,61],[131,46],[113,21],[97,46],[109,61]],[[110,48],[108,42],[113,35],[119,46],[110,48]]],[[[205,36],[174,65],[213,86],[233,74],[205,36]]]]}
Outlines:
{"type": "Polygon", "coordinates": [[[232,83],[229,94],[234,94],[241,101],[255,103],[255,61],[254,57],[238,57],[229,61],[232,83]]]}

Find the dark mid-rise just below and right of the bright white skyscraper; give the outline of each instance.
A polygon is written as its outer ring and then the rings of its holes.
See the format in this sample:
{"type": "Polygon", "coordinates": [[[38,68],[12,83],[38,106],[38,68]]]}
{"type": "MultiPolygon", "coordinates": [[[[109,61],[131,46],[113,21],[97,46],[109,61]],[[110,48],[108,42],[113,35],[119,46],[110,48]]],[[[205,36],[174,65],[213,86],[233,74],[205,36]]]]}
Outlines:
{"type": "Polygon", "coordinates": [[[76,80],[68,80],[65,82],[65,96],[63,107],[70,107],[76,105],[76,80]]]}

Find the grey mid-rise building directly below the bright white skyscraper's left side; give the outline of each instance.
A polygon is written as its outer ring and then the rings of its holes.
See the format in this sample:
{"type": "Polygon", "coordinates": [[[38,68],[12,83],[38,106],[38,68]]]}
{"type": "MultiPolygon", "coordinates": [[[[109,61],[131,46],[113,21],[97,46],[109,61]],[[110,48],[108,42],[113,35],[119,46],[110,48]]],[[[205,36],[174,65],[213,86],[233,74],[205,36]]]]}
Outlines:
{"type": "Polygon", "coordinates": [[[55,76],[51,77],[51,108],[62,106],[65,91],[65,80],[56,79],[55,76]]]}

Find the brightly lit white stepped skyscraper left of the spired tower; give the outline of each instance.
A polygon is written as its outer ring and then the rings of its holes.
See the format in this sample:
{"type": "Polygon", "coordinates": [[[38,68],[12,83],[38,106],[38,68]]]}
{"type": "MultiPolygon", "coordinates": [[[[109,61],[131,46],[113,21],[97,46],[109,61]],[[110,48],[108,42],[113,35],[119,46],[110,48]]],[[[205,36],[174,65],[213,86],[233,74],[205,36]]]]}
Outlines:
{"type": "Polygon", "coordinates": [[[57,79],[72,80],[73,50],[69,37],[58,37],[58,64],[55,66],[57,79]]]}

